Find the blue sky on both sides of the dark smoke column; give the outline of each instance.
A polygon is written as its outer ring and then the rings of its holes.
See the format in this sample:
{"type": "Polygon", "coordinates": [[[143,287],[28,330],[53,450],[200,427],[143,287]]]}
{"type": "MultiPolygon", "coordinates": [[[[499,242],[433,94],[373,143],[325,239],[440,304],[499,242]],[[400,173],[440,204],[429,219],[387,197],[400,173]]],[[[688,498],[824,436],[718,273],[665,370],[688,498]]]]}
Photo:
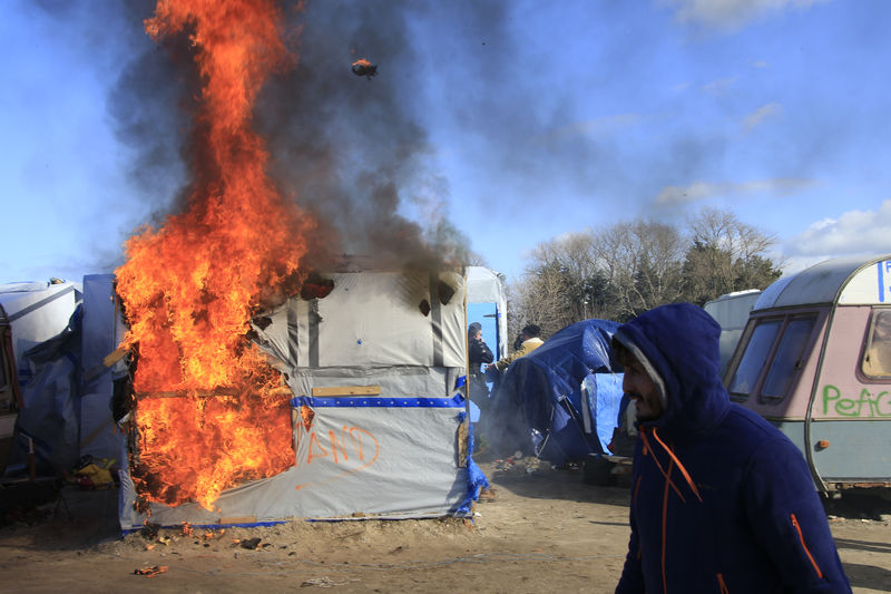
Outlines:
{"type": "MultiPolygon", "coordinates": [[[[399,19],[342,39],[313,35],[313,4],[304,43],[341,48],[337,84],[388,89],[421,133],[427,173],[399,212],[451,220],[510,280],[564,233],[640,216],[683,224],[704,206],[775,234],[789,270],[891,252],[889,2],[390,2],[399,19]],[[399,53],[375,46],[395,36],[388,27],[402,28],[399,53]],[[356,45],[384,58],[371,81],[349,71],[356,45]]],[[[141,177],[141,148],[121,132],[123,77],[138,78],[134,60],[154,46],[138,10],[114,1],[4,8],[0,282],[110,272],[184,184],[163,138],[182,125],[158,124],[164,168],[141,177]]],[[[176,110],[166,87],[143,92],[176,110]]]]}

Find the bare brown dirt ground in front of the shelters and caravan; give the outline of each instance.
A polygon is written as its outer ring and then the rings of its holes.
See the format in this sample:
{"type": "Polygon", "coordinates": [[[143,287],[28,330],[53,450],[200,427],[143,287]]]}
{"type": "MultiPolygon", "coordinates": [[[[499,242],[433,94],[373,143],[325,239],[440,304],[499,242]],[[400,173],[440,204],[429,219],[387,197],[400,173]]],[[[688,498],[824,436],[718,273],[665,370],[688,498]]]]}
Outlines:
{"type": "MultiPolygon", "coordinates": [[[[36,517],[0,528],[0,591],[613,592],[629,530],[626,488],[585,485],[580,473],[544,464],[480,466],[497,497],[473,522],[293,522],[121,538],[115,490],[65,487],[36,517]]],[[[854,592],[891,592],[891,504],[849,499],[828,510],[854,592]]]]}

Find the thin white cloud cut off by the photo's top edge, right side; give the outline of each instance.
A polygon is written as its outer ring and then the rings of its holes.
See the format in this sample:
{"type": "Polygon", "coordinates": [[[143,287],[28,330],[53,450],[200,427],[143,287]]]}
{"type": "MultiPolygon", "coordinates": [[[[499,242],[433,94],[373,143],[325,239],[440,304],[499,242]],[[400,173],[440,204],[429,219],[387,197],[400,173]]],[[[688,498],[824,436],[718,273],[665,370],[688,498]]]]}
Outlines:
{"type": "Polygon", "coordinates": [[[807,8],[826,0],[663,0],[681,22],[733,29],[768,12],[807,8]]]}

